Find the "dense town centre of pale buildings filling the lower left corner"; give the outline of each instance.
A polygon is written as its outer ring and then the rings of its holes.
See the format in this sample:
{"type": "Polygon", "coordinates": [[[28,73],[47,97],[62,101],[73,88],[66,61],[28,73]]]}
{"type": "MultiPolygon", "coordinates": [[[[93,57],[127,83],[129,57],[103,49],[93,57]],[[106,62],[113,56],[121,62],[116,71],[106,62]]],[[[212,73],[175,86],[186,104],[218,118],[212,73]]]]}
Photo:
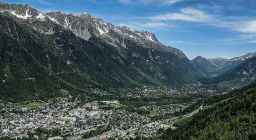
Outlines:
{"type": "MultiPolygon", "coordinates": [[[[31,101],[37,103],[37,101],[31,101]]],[[[0,137],[24,138],[28,133],[35,133],[37,128],[61,131],[59,136],[50,134],[34,135],[39,138],[68,138],[74,135],[84,135],[100,126],[109,125],[109,116],[113,110],[100,110],[100,104],[118,103],[118,101],[94,101],[78,105],[76,98],[54,98],[37,107],[18,104],[0,105],[0,137]],[[22,106],[22,107],[17,107],[22,106]]],[[[31,137],[30,137],[31,138],[31,137]]]]}

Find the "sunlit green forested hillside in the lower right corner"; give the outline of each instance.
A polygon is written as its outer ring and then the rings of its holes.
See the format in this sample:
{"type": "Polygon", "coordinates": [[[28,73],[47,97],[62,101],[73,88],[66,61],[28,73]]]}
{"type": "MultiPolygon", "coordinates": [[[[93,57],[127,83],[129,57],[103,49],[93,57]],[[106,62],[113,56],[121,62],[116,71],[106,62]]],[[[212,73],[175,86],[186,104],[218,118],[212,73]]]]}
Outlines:
{"type": "MultiPolygon", "coordinates": [[[[169,129],[164,140],[255,140],[256,84],[208,99],[206,107],[176,130],[169,129]],[[236,93],[236,94],[235,94],[236,93]],[[219,99],[220,99],[219,98],[219,99]],[[220,101],[220,102],[219,102],[220,101]],[[218,104],[216,104],[218,103],[218,104]]],[[[206,104],[207,102],[205,102],[206,104]]]]}

